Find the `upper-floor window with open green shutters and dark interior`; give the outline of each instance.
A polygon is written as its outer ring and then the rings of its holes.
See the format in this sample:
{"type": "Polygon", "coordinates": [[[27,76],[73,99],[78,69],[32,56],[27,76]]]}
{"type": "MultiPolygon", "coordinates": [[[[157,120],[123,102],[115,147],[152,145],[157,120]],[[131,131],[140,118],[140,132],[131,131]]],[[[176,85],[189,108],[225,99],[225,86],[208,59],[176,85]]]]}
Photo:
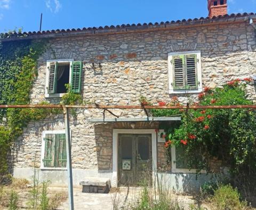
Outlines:
{"type": "Polygon", "coordinates": [[[47,61],[45,97],[61,97],[66,84],[75,93],[81,92],[83,62],[73,59],[47,61]]]}

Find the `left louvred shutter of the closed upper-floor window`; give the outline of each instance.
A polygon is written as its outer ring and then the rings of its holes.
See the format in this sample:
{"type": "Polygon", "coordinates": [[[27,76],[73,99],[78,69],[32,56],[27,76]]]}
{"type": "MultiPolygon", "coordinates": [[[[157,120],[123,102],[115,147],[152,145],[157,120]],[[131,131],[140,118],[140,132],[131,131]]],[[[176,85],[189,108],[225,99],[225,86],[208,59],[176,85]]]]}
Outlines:
{"type": "Polygon", "coordinates": [[[173,66],[173,89],[185,89],[186,77],[185,77],[185,56],[174,55],[172,57],[173,66]]]}

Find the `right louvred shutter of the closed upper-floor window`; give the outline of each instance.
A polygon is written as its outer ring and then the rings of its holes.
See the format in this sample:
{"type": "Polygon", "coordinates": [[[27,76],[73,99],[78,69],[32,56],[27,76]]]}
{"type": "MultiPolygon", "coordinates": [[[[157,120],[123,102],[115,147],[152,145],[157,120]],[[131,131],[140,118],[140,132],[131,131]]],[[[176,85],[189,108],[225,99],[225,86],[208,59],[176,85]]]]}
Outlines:
{"type": "Polygon", "coordinates": [[[186,55],[186,89],[197,89],[196,54],[186,55]]]}

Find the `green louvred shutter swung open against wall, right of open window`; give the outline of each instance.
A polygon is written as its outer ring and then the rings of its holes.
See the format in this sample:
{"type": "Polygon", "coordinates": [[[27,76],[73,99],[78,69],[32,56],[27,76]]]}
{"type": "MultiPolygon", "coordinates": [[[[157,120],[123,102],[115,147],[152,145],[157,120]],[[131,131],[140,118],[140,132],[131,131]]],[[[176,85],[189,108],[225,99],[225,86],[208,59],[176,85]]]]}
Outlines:
{"type": "Polygon", "coordinates": [[[81,92],[81,78],[82,78],[83,62],[73,61],[71,72],[71,90],[74,93],[81,92]]]}

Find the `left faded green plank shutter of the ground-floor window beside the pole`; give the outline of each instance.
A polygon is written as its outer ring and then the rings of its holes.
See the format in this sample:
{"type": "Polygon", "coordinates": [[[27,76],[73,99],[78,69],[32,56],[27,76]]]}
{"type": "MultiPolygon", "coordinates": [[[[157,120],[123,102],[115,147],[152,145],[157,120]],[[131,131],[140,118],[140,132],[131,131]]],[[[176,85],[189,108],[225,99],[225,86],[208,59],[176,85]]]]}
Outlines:
{"type": "Polygon", "coordinates": [[[55,135],[46,134],[44,138],[44,167],[54,166],[55,135]]]}

